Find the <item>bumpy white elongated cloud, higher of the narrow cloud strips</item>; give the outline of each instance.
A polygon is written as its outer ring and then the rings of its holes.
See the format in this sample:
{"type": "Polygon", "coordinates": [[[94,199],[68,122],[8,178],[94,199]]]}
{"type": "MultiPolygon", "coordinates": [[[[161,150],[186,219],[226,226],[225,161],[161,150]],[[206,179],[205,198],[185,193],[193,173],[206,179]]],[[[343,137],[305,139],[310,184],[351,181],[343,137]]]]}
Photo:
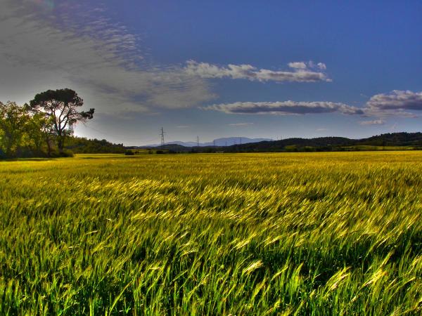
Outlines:
{"type": "Polygon", "coordinates": [[[186,74],[195,77],[212,78],[230,78],[230,79],[248,79],[250,81],[290,81],[290,82],[316,82],[331,81],[321,70],[326,66],[322,62],[315,65],[313,62],[290,62],[288,66],[290,71],[258,69],[252,65],[233,65],[220,67],[207,62],[196,62],[188,60],[184,68],[186,74]]]}

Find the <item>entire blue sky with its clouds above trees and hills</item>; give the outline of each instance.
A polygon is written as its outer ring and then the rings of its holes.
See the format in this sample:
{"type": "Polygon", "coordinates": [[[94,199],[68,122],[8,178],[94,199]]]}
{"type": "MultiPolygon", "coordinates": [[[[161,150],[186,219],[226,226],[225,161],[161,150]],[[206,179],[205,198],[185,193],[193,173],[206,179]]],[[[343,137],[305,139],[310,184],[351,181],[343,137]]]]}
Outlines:
{"type": "Polygon", "coordinates": [[[125,145],[420,131],[421,1],[4,0],[0,101],[73,88],[125,145]]]}

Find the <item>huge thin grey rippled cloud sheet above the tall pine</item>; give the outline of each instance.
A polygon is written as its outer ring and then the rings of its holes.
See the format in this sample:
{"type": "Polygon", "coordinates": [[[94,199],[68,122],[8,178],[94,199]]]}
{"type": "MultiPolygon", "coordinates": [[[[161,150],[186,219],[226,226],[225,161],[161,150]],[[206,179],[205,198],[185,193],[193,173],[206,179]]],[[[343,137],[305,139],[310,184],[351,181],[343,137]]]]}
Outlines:
{"type": "Polygon", "coordinates": [[[68,87],[98,113],[110,113],[191,107],[215,97],[205,80],[182,67],[148,64],[140,39],[91,1],[44,4],[2,1],[0,72],[8,76],[0,76],[0,100],[27,102],[40,91],[68,87]]]}

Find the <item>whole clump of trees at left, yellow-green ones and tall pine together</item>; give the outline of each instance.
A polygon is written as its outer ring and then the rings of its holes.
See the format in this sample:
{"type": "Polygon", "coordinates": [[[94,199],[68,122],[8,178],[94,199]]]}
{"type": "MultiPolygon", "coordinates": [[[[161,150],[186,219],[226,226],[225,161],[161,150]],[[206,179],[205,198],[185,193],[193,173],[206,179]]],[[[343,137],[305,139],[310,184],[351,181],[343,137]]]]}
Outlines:
{"type": "Polygon", "coordinates": [[[39,93],[29,105],[0,103],[0,157],[64,155],[72,126],[94,116],[94,109],[79,111],[83,104],[68,88],[39,93]]]}

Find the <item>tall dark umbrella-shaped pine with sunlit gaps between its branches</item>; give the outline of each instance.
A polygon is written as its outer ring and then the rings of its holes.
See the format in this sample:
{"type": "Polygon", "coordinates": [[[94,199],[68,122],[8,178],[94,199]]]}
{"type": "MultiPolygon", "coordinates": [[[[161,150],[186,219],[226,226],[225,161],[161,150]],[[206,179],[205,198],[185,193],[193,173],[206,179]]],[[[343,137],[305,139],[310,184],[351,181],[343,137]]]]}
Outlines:
{"type": "Polygon", "coordinates": [[[51,119],[53,131],[57,140],[57,147],[63,152],[65,138],[72,134],[72,126],[78,121],[87,121],[94,116],[94,109],[78,112],[84,101],[71,89],[49,90],[37,94],[30,102],[32,110],[44,113],[51,119]]]}

